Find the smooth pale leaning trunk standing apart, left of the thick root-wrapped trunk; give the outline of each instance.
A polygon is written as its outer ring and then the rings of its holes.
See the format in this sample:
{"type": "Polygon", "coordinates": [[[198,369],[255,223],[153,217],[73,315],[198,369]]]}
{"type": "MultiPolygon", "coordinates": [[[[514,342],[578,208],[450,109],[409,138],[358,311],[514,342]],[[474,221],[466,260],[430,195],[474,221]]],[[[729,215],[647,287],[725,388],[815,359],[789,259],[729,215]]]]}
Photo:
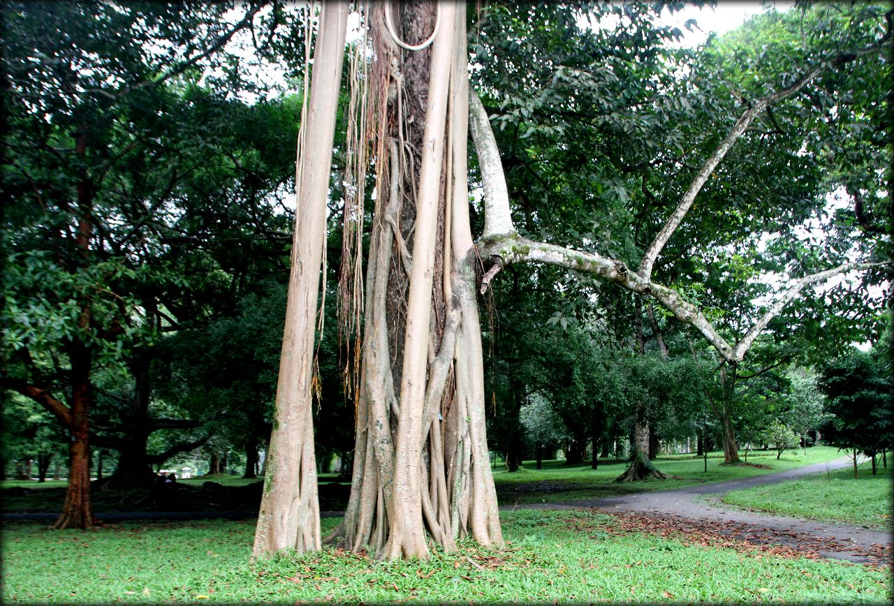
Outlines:
{"type": "Polygon", "coordinates": [[[255,558],[289,548],[298,553],[316,551],[322,539],[312,415],[314,340],[348,4],[325,3],[321,10],[308,112],[299,135],[298,206],[276,421],[267,452],[255,558]]]}

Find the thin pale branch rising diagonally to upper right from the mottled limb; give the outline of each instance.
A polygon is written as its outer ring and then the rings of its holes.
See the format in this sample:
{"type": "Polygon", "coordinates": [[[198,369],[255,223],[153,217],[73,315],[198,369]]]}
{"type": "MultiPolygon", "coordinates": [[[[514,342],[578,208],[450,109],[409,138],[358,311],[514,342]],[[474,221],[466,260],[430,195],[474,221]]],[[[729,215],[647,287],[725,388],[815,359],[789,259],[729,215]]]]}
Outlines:
{"type": "Polygon", "coordinates": [[[652,244],[649,245],[649,248],[646,249],[645,255],[643,256],[642,262],[639,264],[639,269],[637,270],[637,274],[642,276],[645,280],[650,280],[652,278],[652,268],[655,265],[655,260],[658,258],[659,253],[661,253],[664,245],[667,244],[668,240],[671,240],[671,236],[674,231],[677,231],[679,224],[683,222],[683,217],[689,212],[689,209],[692,208],[693,203],[696,201],[696,196],[698,192],[701,191],[704,186],[705,181],[708,181],[708,178],[711,176],[711,173],[714,172],[714,169],[717,168],[717,165],[721,163],[721,160],[727,153],[730,151],[730,148],[736,143],[736,141],[742,136],[745,130],[748,128],[748,125],[751,124],[752,121],[757,117],[758,114],[761,114],[764,109],[769,107],[772,103],[776,103],[781,99],[786,97],[791,97],[798,90],[804,88],[807,83],[811,80],[814,80],[822,70],[820,68],[814,68],[811,72],[808,72],[803,78],[797,80],[794,84],[792,84],[788,88],[783,88],[781,90],[776,91],[772,95],[768,95],[767,97],[763,97],[762,99],[758,99],[755,101],[753,105],[748,107],[746,111],[739,116],[738,121],[733,125],[730,130],[730,134],[726,136],[725,139],[721,141],[721,144],[717,146],[711,156],[704,162],[701,170],[696,173],[696,178],[692,180],[689,184],[689,188],[686,190],[686,193],[683,194],[683,198],[679,202],[679,206],[671,213],[671,216],[668,217],[666,223],[662,227],[662,230],[658,232],[658,235],[655,236],[655,239],[652,241],[652,244]]]}

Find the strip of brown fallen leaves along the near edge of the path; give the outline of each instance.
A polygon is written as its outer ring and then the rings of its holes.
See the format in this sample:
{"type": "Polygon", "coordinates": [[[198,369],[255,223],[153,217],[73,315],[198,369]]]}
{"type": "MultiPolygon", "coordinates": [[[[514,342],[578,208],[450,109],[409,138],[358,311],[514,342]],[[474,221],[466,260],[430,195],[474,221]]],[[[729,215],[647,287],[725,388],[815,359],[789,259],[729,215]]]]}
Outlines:
{"type": "MultiPolygon", "coordinates": [[[[891,547],[876,545],[861,548],[842,543],[831,537],[812,536],[788,530],[774,530],[754,524],[732,521],[696,520],[672,514],[645,514],[631,511],[605,511],[614,518],[613,523],[602,530],[609,534],[642,533],[675,539],[686,545],[723,547],[744,553],[757,553],[797,560],[818,560],[831,553],[847,553],[848,560],[861,562],[877,569],[890,569],[891,547]]],[[[586,527],[586,520],[569,518],[571,526],[580,526],[581,532],[595,530],[586,527]],[[585,524],[582,524],[585,523],[585,524]]]]}

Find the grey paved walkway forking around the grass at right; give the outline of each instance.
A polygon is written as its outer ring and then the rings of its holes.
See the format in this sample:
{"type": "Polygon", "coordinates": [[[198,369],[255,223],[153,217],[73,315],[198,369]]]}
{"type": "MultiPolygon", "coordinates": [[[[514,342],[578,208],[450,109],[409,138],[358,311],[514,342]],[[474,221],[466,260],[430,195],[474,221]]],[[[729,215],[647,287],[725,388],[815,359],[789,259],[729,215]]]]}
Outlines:
{"type": "MultiPolygon", "coordinates": [[[[759,541],[779,543],[788,546],[799,546],[804,543],[822,545],[826,549],[817,552],[825,558],[836,558],[851,561],[867,561],[868,551],[878,552],[880,548],[890,549],[892,544],[891,530],[873,530],[859,526],[843,526],[816,522],[788,516],[772,516],[755,511],[727,509],[718,500],[706,500],[704,495],[730,492],[743,488],[751,488],[763,484],[776,484],[801,476],[809,476],[826,470],[848,467],[851,459],[835,459],[828,463],[816,463],[805,467],[797,467],[764,476],[749,477],[741,480],[729,480],[717,484],[701,484],[667,491],[639,492],[619,497],[603,499],[584,499],[580,501],[564,501],[561,503],[535,503],[532,505],[506,506],[500,509],[568,509],[598,508],[617,511],[632,511],[643,514],[672,516],[689,520],[722,522],[729,527],[729,534],[736,536],[752,536],[761,534],[766,529],[766,536],[759,541]]],[[[716,525],[715,525],[716,526],[716,525]]]]}

